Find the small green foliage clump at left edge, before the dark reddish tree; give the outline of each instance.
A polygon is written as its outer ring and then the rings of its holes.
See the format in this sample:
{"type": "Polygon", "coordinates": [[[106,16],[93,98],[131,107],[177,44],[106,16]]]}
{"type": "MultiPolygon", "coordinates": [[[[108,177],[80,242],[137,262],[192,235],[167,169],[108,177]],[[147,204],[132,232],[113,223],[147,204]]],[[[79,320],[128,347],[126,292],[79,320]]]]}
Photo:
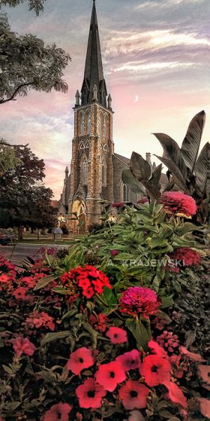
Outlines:
{"type": "Polygon", "coordinates": [[[20,159],[15,156],[15,150],[8,143],[0,138],[0,177],[6,171],[20,165],[20,159]]]}

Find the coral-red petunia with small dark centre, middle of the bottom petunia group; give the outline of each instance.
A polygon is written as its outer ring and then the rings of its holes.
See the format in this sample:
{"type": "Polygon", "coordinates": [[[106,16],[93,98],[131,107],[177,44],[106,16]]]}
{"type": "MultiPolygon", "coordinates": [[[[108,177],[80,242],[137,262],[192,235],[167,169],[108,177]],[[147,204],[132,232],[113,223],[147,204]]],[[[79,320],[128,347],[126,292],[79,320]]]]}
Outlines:
{"type": "Polygon", "coordinates": [[[111,363],[99,366],[95,378],[104,389],[113,392],[118,383],[124,382],[126,375],[122,365],[118,361],[112,361],[111,363]]]}

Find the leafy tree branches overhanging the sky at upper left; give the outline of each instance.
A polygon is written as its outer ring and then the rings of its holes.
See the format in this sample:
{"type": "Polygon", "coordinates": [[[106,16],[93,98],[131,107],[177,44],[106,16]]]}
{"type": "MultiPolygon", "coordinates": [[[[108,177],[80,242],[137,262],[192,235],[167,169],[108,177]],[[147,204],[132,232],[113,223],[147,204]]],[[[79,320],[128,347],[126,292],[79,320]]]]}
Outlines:
{"type": "Polygon", "coordinates": [[[69,60],[69,54],[55,44],[45,46],[31,34],[18,36],[11,31],[7,16],[0,15],[0,104],[27,95],[30,89],[49,93],[54,88],[65,93],[68,86],[62,71],[69,60]]]}

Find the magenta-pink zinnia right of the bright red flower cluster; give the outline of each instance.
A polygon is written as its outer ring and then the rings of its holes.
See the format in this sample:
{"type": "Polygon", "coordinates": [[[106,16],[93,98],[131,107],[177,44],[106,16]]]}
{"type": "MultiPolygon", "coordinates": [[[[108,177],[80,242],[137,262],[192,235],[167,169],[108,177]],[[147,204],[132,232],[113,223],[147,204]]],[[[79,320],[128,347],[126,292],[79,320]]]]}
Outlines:
{"type": "Polygon", "coordinates": [[[120,298],[120,312],[130,316],[141,315],[144,319],[156,314],[160,307],[157,294],[151,288],[132,286],[120,298]]]}

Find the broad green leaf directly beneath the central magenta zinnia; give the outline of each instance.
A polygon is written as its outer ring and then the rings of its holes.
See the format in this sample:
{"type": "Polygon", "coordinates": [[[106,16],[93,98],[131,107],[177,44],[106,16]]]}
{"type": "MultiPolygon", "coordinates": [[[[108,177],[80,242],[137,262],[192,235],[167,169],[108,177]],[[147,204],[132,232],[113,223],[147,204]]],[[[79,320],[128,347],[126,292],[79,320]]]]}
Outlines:
{"type": "Polygon", "coordinates": [[[151,340],[150,322],[148,321],[144,326],[143,322],[137,321],[137,319],[127,319],[125,324],[134,335],[139,351],[142,348],[147,350],[148,342],[151,340]]]}

